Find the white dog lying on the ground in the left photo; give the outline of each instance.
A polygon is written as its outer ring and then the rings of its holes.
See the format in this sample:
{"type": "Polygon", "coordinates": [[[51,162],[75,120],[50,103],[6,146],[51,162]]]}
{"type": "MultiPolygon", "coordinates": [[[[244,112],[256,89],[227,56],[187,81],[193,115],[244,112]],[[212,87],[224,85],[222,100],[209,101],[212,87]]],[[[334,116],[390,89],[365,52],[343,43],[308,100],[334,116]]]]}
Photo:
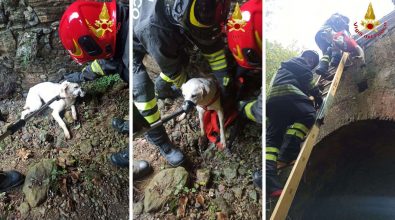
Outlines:
{"type": "Polygon", "coordinates": [[[26,104],[23,107],[21,119],[25,119],[26,115],[37,111],[43,105],[42,101],[47,103],[55,96],[59,95],[62,99],[54,101],[49,107],[53,110],[52,116],[63,129],[66,139],[70,139],[70,132],[67,130],[66,124],[60,117],[59,113],[64,109],[71,107],[71,114],[74,120],[77,120],[77,112],[75,110],[74,102],[78,96],[84,97],[85,92],[77,83],[64,81],[62,84],[43,82],[39,83],[29,89],[27,94],[26,104]]]}

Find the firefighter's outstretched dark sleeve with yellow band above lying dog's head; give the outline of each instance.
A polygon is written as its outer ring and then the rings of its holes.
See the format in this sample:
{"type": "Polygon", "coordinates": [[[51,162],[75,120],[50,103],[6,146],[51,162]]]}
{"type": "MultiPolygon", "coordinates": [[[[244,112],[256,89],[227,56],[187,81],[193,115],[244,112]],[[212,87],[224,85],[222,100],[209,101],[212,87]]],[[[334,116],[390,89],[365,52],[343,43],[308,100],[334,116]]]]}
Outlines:
{"type": "Polygon", "coordinates": [[[92,81],[98,77],[117,73],[119,63],[113,59],[98,59],[84,67],[81,72],[65,75],[64,78],[69,82],[92,81]]]}

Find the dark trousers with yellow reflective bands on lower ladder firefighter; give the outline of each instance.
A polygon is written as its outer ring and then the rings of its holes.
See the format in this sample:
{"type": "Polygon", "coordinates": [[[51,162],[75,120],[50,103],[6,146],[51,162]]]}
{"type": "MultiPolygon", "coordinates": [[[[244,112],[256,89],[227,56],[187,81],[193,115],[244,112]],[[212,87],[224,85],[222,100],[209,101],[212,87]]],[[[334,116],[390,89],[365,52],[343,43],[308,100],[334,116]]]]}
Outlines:
{"type": "Polygon", "coordinates": [[[300,144],[314,124],[316,110],[307,97],[275,97],[266,105],[268,123],[266,127],[266,179],[268,192],[278,189],[278,160],[289,163],[295,160],[300,144]],[[271,184],[273,183],[273,184],[271,184]]]}

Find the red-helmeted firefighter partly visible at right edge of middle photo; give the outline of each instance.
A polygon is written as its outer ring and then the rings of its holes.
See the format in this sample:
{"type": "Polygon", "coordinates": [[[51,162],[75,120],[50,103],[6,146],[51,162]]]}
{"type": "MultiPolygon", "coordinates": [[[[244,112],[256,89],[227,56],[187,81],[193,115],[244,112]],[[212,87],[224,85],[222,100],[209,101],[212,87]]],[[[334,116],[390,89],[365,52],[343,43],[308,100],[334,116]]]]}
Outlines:
{"type": "MultiPolygon", "coordinates": [[[[237,75],[242,72],[246,78],[262,76],[261,0],[249,0],[241,8],[236,4],[227,23],[227,36],[229,49],[239,65],[237,75]]],[[[262,124],[262,92],[257,99],[241,101],[239,111],[245,118],[262,124]]],[[[262,188],[262,170],[253,173],[253,182],[262,188]]]]}

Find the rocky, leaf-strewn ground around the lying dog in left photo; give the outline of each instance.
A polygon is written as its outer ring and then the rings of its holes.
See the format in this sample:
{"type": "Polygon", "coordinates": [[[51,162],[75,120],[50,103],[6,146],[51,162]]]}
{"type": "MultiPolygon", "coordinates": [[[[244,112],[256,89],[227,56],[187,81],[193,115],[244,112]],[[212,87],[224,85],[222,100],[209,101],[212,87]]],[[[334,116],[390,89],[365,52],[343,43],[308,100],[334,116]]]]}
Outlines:
{"type": "MultiPolygon", "coordinates": [[[[24,186],[0,194],[0,219],[129,218],[129,170],[108,160],[129,141],[111,128],[112,117],[128,116],[128,85],[106,77],[83,88],[78,120],[64,114],[71,140],[47,110],[0,142],[0,170],[27,175],[24,186]]],[[[24,101],[21,95],[0,101],[1,133],[18,120],[24,101]]]]}

